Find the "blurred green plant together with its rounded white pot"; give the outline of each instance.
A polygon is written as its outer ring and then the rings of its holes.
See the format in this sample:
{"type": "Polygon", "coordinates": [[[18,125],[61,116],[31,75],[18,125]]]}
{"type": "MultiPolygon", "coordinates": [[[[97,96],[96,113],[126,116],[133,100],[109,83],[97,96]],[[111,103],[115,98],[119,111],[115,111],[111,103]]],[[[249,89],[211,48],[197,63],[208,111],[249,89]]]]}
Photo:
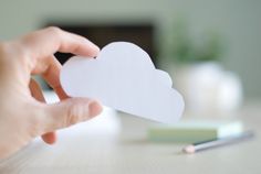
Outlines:
{"type": "Polygon", "coordinates": [[[192,41],[184,21],[175,23],[170,36],[170,59],[174,84],[182,93],[188,110],[217,112],[234,110],[241,102],[239,77],[226,72],[220,59],[223,40],[217,32],[205,32],[192,41]]]}

